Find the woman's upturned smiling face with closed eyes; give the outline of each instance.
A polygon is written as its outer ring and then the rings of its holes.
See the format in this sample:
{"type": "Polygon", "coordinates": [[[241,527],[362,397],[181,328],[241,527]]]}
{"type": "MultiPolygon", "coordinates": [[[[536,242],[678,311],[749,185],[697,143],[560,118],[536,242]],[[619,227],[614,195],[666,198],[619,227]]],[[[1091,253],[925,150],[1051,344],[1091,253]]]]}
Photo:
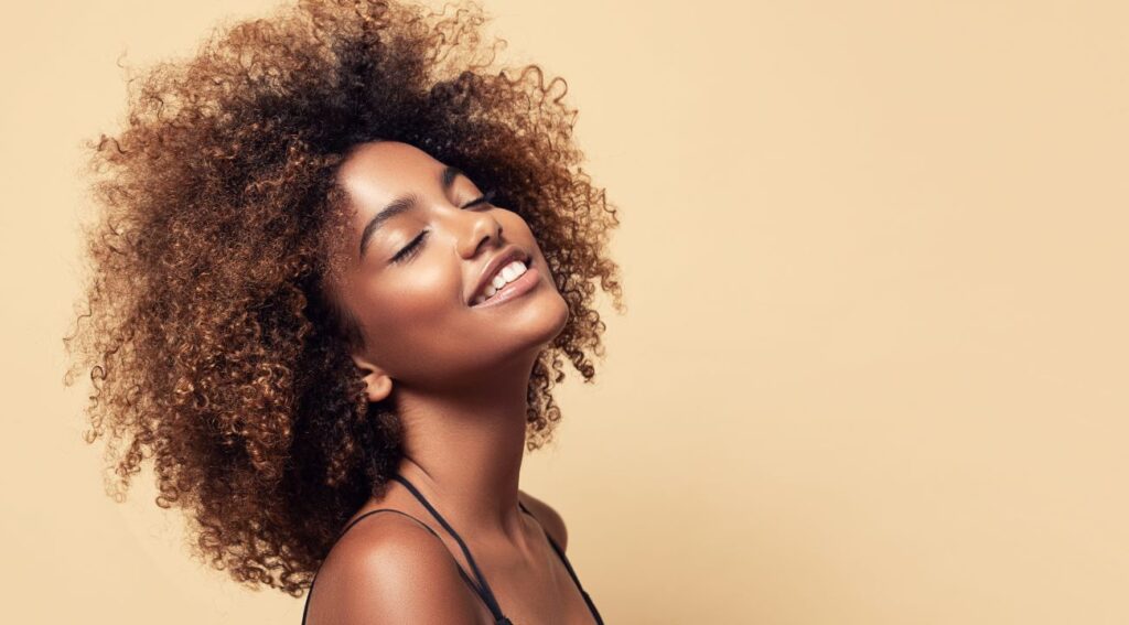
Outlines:
{"type": "Polygon", "coordinates": [[[568,306],[530,227],[466,175],[380,141],[358,147],[338,179],[356,212],[336,290],[366,340],[361,367],[401,384],[464,385],[532,366],[564,327],[568,306]],[[514,266],[497,292],[482,288],[515,258],[526,274],[514,266]],[[495,296],[476,303],[484,292],[495,296]]]}

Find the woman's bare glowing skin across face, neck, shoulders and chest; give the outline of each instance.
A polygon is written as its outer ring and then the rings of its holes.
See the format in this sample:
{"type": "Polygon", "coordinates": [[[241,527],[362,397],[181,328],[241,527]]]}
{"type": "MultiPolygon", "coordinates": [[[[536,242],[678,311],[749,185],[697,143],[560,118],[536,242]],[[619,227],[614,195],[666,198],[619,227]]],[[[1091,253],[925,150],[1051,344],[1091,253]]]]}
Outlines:
{"type": "MultiPolygon", "coordinates": [[[[463,537],[506,616],[516,625],[592,623],[545,537],[564,548],[563,520],[518,490],[526,388],[568,306],[528,225],[500,206],[470,205],[484,190],[465,175],[445,186],[445,168],[412,146],[380,141],[357,147],[339,170],[356,214],[339,250],[352,259],[332,287],[366,338],[353,361],[369,400],[391,397],[402,420],[400,473],[463,537]],[[408,195],[413,209],[386,221],[360,254],[370,219],[408,195]],[[412,253],[392,261],[425,230],[412,253]],[[483,269],[508,245],[532,254],[539,283],[507,302],[471,307],[483,269]]],[[[380,512],[350,529],[318,572],[308,625],[493,623],[458,574],[456,562],[473,579],[458,544],[402,484],[392,482],[353,519],[377,508],[418,521],[380,512]]]]}

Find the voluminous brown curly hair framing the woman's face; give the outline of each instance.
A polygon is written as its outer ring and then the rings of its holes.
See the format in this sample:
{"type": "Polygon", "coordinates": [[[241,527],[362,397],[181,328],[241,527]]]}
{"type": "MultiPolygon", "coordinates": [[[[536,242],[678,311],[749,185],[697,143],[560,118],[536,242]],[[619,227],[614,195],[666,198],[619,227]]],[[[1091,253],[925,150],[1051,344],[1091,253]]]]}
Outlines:
{"type": "Polygon", "coordinates": [[[327,287],[350,148],[413,144],[528,222],[569,307],[530,379],[530,451],[560,420],[564,359],[587,382],[604,356],[596,283],[624,309],[607,255],[619,219],[580,167],[567,85],[498,69],[505,42],[482,45],[484,19],[465,3],[301,0],[148,67],[120,132],[85,142],[100,210],[63,338],[65,384],[93,382],[85,439],[104,440],[117,501],[151,460],[156,503],[184,510],[193,553],[251,588],[300,597],[402,458],[327,287]]]}

